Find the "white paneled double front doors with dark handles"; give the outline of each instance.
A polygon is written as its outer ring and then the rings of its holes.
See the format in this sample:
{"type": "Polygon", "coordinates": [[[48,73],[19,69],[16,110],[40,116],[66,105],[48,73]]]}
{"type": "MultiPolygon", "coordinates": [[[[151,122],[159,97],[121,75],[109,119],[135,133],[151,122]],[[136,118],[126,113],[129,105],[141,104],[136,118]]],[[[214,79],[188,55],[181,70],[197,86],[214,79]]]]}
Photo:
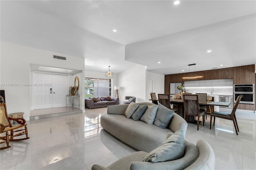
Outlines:
{"type": "Polygon", "coordinates": [[[33,109],[65,107],[68,75],[32,73],[33,109]]]}

